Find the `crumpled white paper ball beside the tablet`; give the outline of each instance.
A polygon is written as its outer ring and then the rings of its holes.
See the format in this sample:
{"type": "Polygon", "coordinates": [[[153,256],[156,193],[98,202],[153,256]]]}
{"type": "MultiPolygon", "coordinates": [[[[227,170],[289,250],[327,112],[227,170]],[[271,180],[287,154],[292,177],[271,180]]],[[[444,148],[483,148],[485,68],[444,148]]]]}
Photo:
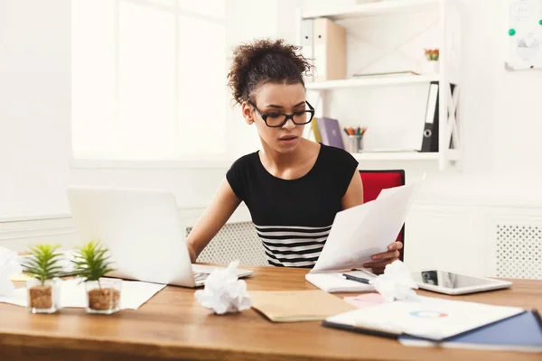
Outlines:
{"type": "Polygon", "coordinates": [[[372,280],[371,284],[386,301],[418,300],[418,295],[414,291],[418,286],[412,278],[412,273],[408,271],[406,264],[399,260],[387,264],[384,273],[372,280]]]}

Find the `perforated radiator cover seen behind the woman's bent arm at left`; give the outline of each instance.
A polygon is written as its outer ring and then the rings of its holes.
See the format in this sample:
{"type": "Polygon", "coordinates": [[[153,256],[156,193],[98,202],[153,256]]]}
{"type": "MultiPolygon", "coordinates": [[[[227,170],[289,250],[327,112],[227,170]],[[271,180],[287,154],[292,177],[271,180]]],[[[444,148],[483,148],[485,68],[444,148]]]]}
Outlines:
{"type": "MultiPolygon", "coordinates": [[[[186,235],[191,231],[192,227],[186,228],[186,235]]],[[[268,265],[252,222],[226,224],[201,252],[198,262],[229,264],[236,259],[239,264],[268,265]]]]}

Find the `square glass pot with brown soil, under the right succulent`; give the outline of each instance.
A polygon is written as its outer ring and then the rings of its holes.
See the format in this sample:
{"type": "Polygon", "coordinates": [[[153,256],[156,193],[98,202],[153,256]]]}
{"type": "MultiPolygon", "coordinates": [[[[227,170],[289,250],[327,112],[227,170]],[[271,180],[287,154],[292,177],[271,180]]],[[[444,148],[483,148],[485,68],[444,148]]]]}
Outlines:
{"type": "Polygon", "coordinates": [[[87,312],[109,315],[120,310],[122,280],[102,278],[85,282],[87,312]]]}

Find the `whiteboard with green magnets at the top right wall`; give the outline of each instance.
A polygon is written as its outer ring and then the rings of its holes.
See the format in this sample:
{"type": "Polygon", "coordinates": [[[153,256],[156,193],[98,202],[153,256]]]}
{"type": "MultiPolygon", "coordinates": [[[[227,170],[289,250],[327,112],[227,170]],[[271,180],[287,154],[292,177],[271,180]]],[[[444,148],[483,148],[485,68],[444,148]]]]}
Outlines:
{"type": "Polygon", "coordinates": [[[542,69],[542,0],[506,0],[505,66],[542,69]]]}

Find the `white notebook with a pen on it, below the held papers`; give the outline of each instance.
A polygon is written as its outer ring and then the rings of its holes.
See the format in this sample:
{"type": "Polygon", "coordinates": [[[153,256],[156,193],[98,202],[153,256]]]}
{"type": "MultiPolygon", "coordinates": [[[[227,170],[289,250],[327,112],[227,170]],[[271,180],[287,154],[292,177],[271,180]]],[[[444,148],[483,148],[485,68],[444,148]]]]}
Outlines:
{"type": "MultiPolygon", "coordinates": [[[[359,270],[345,272],[355,277],[374,279],[376,276],[369,271],[359,270]]],[[[342,276],[342,273],[307,273],[305,280],[313,283],[316,287],[325,292],[371,292],[375,288],[371,284],[350,281],[342,276]]]]}

